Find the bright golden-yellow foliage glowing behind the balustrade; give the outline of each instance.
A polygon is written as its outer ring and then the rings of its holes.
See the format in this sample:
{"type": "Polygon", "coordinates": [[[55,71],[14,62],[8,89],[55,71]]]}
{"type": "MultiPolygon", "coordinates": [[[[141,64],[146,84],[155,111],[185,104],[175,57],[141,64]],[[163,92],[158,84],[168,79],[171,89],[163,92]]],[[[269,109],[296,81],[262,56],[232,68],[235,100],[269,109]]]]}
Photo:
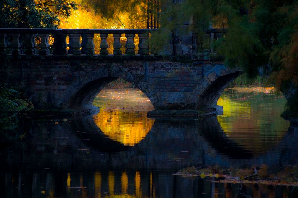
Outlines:
{"type": "MultiPolygon", "coordinates": [[[[104,18],[102,15],[95,13],[95,11],[88,5],[80,6],[81,0],[75,0],[79,5],[77,10],[72,11],[69,18],[59,17],[61,29],[123,29],[123,28],[145,28],[146,27],[146,13],[143,13],[141,7],[137,6],[136,10],[131,10],[131,13],[121,12],[118,10],[113,18],[104,18]]],[[[95,54],[100,54],[100,34],[94,35],[94,50],[95,54]]],[[[108,34],[107,37],[108,53],[113,54],[114,51],[114,37],[112,34],[108,34]]],[[[125,54],[125,34],[120,37],[120,43],[122,47],[120,50],[122,54],[125,54]]],[[[138,51],[139,37],[136,34],[134,38],[136,45],[135,51],[138,51]]]]}

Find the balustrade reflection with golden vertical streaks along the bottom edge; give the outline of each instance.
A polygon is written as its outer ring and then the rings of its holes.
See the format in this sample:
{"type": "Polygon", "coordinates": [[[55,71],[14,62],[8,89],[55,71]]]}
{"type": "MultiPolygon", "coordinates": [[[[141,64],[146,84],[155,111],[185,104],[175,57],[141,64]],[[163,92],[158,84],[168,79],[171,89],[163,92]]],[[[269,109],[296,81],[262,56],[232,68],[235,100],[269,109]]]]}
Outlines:
{"type": "MultiPolygon", "coordinates": [[[[288,197],[293,187],[213,183],[154,171],[49,171],[0,175],[3,197],[288,197]],[[26,183],[26,186],[22,184],[26,183]],[[15,188],[18,191],[15,191],[15,188]]],[[[292,197],[297,195],[294,191],[292,197]]]]}

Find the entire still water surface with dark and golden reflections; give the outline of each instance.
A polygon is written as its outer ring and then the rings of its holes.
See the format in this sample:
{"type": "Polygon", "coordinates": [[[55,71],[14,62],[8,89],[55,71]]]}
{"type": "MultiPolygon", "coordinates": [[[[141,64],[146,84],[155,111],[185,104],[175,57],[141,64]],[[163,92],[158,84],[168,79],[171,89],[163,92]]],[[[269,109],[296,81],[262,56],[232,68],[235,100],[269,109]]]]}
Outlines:
{"type": "Polygon", "coordinates": [[[298,125],[271,88],[226,89],[223,115],[149,119],[142,92],[103,90],[96,115],[1,123],[0,197],[298,197],[297,187],[172,175],[218,164],[297,164],[298,125]]]}

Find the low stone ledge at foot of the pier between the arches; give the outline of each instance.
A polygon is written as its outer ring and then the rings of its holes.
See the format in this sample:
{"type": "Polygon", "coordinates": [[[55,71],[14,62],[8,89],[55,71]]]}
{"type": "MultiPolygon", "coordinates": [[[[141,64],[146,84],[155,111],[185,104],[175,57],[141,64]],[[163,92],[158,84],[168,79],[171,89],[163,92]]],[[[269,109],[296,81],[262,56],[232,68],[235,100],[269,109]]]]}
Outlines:
{"type": "Polygon", "coordinates": [[[147,113],[147,117],[156,119],[197,119],[198,117],[207,115],[221,115],[223,106],[206,107],[199,110],[153,110],[147,113]]]}

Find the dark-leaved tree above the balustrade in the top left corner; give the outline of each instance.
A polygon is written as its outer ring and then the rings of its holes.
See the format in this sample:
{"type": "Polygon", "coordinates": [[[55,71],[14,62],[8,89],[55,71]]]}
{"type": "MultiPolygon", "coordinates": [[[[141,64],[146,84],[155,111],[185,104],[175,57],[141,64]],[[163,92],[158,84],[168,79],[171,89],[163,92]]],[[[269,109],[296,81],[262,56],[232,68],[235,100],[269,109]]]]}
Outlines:
{"type": "Polygon", "coordinates": [[[1,0],[0,27],[56,28],[58,15],[69,17],[75,9],[69,0],[1,0]]]}

